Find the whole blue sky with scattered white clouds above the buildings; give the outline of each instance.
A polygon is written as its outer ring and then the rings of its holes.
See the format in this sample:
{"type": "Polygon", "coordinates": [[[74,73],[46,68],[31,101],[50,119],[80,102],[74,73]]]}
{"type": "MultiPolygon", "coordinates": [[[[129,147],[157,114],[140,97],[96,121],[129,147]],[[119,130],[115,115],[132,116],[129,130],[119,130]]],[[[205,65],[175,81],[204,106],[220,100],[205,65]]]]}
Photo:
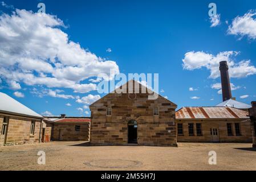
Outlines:
{"type": "Polygon", "coordinates": [[[6,0],[0,4],[0,92],[40,114],[88,116],[90,102],[104,96],[91,79],[114,68],[125,75],[159,73],[160,94],[179,108],[214,106],[222,101],[216,64],[227,60],[233,97],[250,104],[256,100],[256,2],[214,1],[220,15],[214,27],[211,2],[6,0]],[[48,19],[36,16],[39,2],[48,19]]]}

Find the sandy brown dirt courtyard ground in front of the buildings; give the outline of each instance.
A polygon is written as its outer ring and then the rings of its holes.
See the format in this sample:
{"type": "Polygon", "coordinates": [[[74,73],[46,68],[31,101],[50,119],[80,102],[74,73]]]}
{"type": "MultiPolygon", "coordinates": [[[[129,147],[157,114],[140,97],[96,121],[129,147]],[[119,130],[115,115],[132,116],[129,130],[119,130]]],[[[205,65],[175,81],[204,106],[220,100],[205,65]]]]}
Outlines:
{"type": "Polygon", "coordinates": [[[0,147],[0,170],[256,170],[256,150],[241,143],[178,143],[178,147],[85,146],[51,142],[0,147]],[[39,165],[38,151],[46,152],[39,165]],[[209,165],[209,151],[217,164],[209,165]]]}

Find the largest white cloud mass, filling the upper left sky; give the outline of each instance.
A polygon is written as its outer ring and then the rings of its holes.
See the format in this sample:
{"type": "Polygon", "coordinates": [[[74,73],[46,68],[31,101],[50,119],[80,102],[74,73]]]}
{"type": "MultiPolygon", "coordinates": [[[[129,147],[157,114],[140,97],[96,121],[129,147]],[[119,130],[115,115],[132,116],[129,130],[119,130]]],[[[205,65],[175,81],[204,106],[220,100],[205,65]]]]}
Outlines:
{"type": "Polygon", "coordinates": [[[12,15],[2,14],[0,77],[26,85],[88,93],[96,90],[96,85],[82,81],[100,73],[109,76],[110,69],[119,73],[115,61],[102,59],[69,40],[60,29],[63,26],[62,20],[49,14],[18,9],[12,15]]]}

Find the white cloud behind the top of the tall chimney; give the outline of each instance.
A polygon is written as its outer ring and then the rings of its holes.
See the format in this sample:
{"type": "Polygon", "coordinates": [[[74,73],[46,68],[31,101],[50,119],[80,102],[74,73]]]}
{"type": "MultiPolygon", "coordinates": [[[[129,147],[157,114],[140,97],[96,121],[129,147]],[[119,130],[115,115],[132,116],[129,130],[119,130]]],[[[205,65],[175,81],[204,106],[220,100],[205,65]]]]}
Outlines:
{"type": "Polygon", "coordinates": [[[193,71],[194,69],[206,68],[210,71],[210,78],[220,77],[220,61],[227,61],[229,65],[229,75],[233,78],[247,77],[256,74],[256,68],[251,65],[250,60],[242,60],[238,63],[232,59],[238,52],[226,51],[220,52],[216,56],[203,51],[187,52],[183,61],[183,69],[193,71]]]}

